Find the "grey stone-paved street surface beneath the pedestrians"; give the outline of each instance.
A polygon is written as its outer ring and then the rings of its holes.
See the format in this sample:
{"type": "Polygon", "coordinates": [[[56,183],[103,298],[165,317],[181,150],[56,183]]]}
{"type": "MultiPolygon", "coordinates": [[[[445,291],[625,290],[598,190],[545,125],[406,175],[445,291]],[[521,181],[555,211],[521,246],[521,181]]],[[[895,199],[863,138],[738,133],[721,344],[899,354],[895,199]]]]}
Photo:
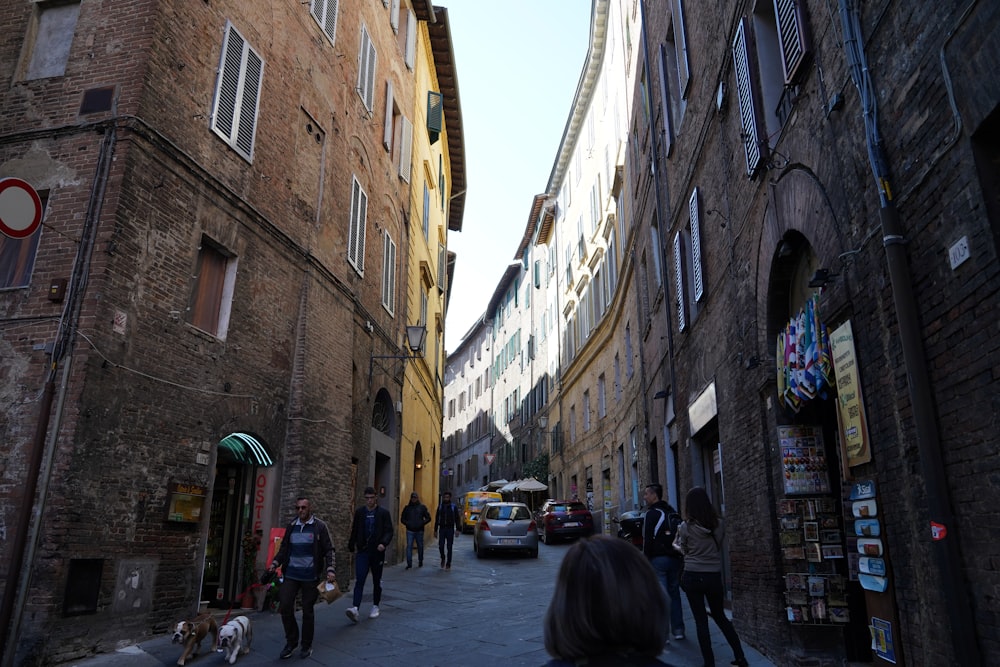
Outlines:
{"type": "MultiPolygon", "coordinates": [[[[281,618],[270,612],[237,612],[253,621],[253,647],[237,665],[337,665],[354,666],[454,666],[539,667],[549,659],[542,638],[542,618],[552,596],[556,571],[566,546],[542,545],[539,558],[501,556],[478,560],[468,536],[459,539],[451,570],[441,569],[437,550],[428,549],[422,568],[405,564],[385,569],[383,595],[377,619],[369,619],[371,581],[365,588],[361,622],[355,625],[345,615],[351,593],[331,605],[316,607],[316,638],[311,658],[295,655],[278,660],[284,646],[281,618]]],[[[431,545],[428,545],[431,546],[431,545]]],[[[678,667],[701,667],[701,653],[687,600],[684,601],[688,638],[671,640],[661,656],[678,667]]],[[[218,613],[219,621],[225,611],[218,613]]],[[[301,618],[301,616],[300,616],[301,618]]],[[[728,665],[732,652],[722,633],[710,622],[716,663],[728,665]]],[[[745,641],[753,667],[773,667],[745,641]]],[[[211,639],[202,655],[188,665],[223,665],[212,652],[211,639]]],[[[75,667],[155,667],[174,665],[180,647],[170,635],[67,663],[75,667]]]]}

